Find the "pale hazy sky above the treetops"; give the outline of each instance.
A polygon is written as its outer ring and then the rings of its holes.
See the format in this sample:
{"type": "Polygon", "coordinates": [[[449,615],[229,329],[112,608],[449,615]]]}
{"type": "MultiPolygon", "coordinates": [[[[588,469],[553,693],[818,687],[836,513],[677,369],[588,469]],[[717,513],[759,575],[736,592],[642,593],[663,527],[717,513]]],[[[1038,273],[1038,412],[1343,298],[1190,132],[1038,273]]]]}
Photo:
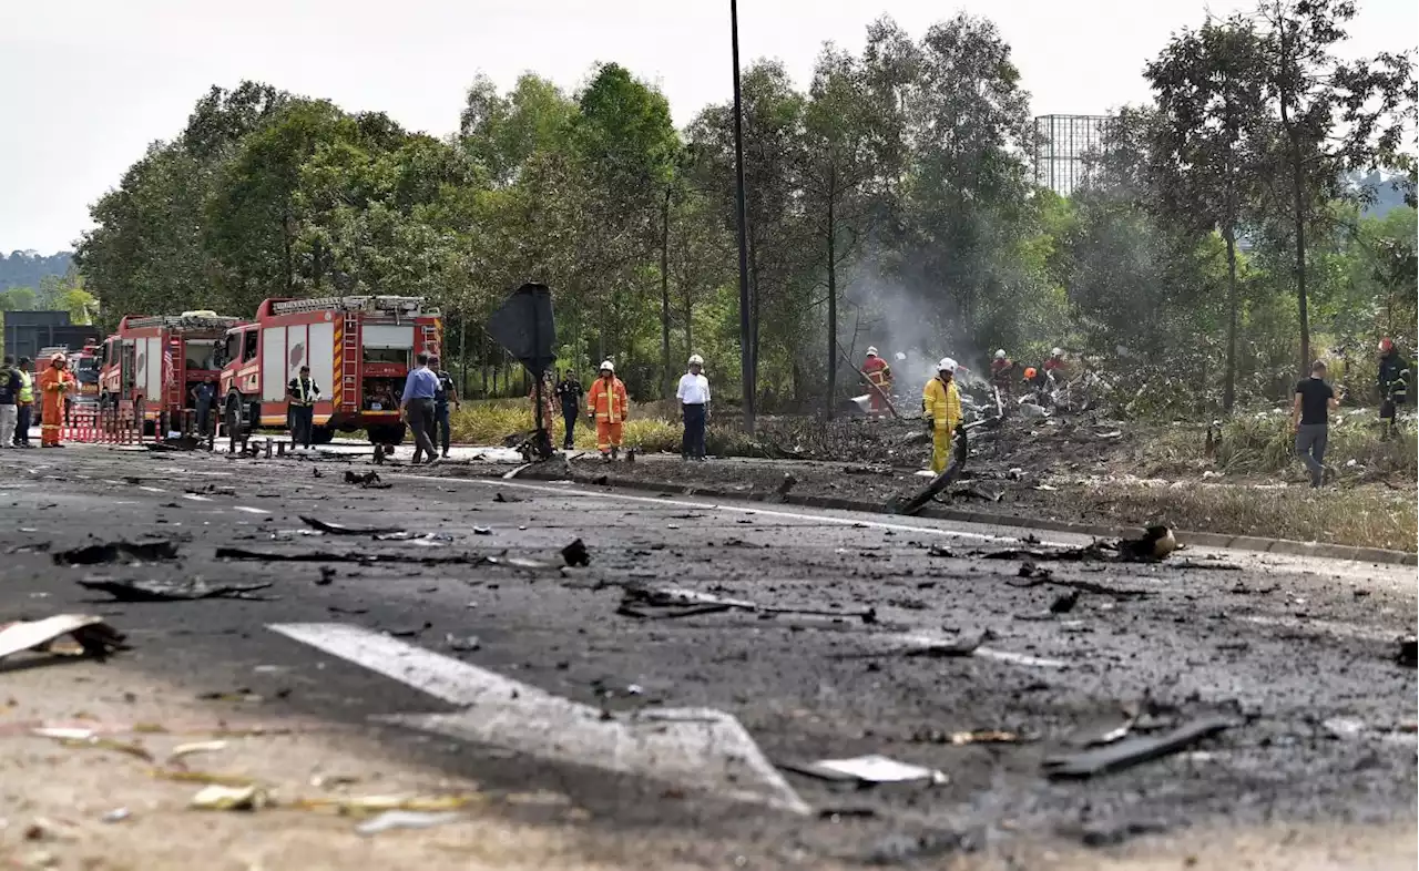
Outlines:
{"type": "MultiPolygon", "coordinates": [[[[1419,1],[1361,0],[1347,54],[1419,43],[1419,1]]],[[[0,0],[0,251],[68,248],[88,204],[149,142],[177,133],[209,85],[241,78],[453,132],[478,71],[566,88],[617,61],[687,123],[731,89],[728,0],[0,0]]],[[[1252,0],[741,0],[745,61],[800,84],[824,40],[857,50],[887,13],[920,37],[958,10],[993,18],[1036,115],[1147,96],[1141,70],[1205,10],[1252,0]]]]}

